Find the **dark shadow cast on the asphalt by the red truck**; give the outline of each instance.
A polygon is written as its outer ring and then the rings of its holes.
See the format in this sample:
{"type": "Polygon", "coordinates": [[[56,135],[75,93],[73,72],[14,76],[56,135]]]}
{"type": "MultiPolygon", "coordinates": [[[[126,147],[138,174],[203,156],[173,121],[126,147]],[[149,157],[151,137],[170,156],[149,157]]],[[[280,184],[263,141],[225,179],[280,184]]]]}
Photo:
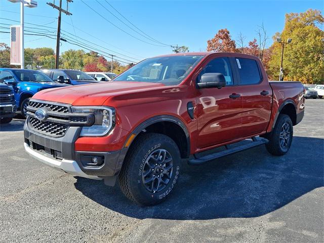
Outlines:
{"type": "Polygon", "coordinates": [[[78,178],[75,188],[110,210],[139,219],[258,217],[323,186],[323,145],[324,139],[294,137],[281,157],[259,146],[199,167],[184,163],[170,198],[154,207],[137,206],[118,186],[102,181],[78,178]]]}

